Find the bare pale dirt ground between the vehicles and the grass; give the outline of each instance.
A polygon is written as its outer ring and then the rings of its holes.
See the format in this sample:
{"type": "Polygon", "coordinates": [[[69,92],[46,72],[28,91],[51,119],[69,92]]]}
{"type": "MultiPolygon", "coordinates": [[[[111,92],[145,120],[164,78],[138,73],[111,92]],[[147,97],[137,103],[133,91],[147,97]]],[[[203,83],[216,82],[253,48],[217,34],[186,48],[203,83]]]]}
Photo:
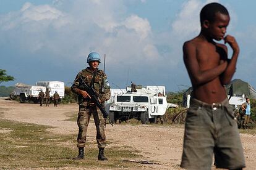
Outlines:
{"type": "MultiPolygon", "coordinates": [[[[54,126],[54,132],[58,134],[77,134],[77,124],[66,121],[67,114],[78,110],[78,105],[59,105],[54,107],[40,107],[39,104],[19,103],[0,99],[0,108],[4,109],[1,118],[54,126]]],[[[161,164],[149,165],[146,169],[181,169],[182,142],[184,126],[154,126],[115,124],[114,127],[107,124],[106,137],[111,145],[126,145],[135,148],[148,161],[161,164]]],[[[93,123],[89,124],[87,140],[95,139],[96,131],[93,123]]],[[[256,169],[256,136],[255,134],[241,134],[244,147],[247,168],[256,169]]],[[[232,140],[232,139],[231,139],[232,140]]],[[[74,144],[75,147],[76,144],[74,144]]],[[[106,152],[108,148],[106,148],[106,152]]]]}

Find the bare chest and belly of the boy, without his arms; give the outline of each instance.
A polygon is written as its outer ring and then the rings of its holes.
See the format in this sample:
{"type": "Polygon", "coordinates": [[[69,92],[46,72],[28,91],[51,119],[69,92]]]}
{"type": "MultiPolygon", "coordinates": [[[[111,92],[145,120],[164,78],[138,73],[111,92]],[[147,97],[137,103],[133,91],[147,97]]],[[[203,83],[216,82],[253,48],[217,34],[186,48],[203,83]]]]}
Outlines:
{"type": "MultiPolygon", "coordinates": [[[[227,59],[226,46],[218,44],[213,41],[207,41],[201,38],[194,38],[186,42],[189,46],[195,48],[195,60],[198,63],[198,69],[200,71],[211,70],[218,67],[220,63],[227,59]]],[[[191,79],[191,74],[189,76],[191,79]]],[[[201,100],[206,103],[222,102],[226,99],[226,91],[221,83],[220,76],[216,76],[206,83],[197,84],[192,79],[193,95],[195,99],[201,100]]]]}

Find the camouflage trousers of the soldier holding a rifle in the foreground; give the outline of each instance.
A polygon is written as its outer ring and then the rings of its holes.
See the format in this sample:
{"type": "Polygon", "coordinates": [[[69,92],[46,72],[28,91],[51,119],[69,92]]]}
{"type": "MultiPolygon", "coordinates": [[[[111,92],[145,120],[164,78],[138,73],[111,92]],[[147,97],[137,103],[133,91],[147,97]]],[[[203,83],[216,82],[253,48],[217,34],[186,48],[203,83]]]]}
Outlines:
{"type": "Polygon", "coordinates": [[[106,147],[106,136],[105,136],[105,123],[106,120],[103,118],[103,114],[100,109],[96,106],[85,107],[79,105],[79,113],[77,117],[77,125],[79,126],[79,134],[77,136],[77,147],[85,147],[87,128],[90,121],[90,117],[93,115],[94,123],[96,126],[96,140],[98,148],[106,147]]]}

